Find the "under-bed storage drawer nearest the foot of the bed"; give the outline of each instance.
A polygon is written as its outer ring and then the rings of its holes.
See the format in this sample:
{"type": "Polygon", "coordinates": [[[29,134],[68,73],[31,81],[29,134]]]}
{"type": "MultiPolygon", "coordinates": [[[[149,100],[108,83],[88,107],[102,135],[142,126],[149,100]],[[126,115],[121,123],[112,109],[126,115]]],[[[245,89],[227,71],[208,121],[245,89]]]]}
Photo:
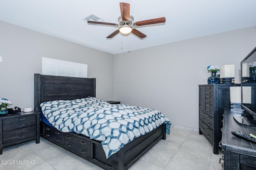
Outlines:
{"type": "Polygon", "coordinates": [[[74,137],[69,133],[64,133],[64,147],[67,150],[71,150],[76,152],[77,154],[91,158],[91,142],[90,141],[86,141],[84,139],[74,137]]]}

